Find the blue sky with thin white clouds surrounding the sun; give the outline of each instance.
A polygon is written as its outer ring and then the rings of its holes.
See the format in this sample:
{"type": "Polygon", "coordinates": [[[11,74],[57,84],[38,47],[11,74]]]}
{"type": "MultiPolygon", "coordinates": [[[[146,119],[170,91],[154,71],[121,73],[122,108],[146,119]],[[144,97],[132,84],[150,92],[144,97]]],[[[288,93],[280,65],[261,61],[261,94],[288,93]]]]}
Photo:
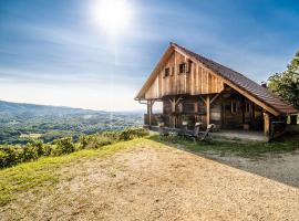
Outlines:
{"type": "Polygon", "coordinates": [[[261,82],[299,50],[293,0],[130,0],[116,36],[96,0],[0,0],[0,99],[131,110],[171,41],[261,82]]]}

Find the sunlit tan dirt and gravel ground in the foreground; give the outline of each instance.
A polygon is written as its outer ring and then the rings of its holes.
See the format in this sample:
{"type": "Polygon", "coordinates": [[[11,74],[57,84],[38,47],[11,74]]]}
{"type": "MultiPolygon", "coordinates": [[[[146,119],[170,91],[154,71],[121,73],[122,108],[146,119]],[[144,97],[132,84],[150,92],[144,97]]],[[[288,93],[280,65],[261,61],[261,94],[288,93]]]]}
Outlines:
{"type": "Polygon", "coordinates": [[[298,220],[299,189],[174,148],[140,144],[64,167],[0,220],[298,220]]]}

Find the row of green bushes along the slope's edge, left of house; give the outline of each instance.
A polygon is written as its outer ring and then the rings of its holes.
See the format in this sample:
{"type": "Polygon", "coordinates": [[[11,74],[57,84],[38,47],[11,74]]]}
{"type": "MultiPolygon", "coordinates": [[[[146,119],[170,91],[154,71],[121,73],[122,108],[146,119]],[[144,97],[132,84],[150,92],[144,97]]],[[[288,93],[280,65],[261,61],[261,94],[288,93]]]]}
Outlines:
{"type": "MultiPolygon", "coordinates": [[[[144,128],[126,128],[122,131],[104,131],[95,135],[81,135],[78,149],[100,148],[120,140],[130,140],[147,136],[144,128]]],[[[53,145],[44,145],[41,140],[31,140],[25,146],[0,146],[0,168],[11,167],[19,162],[35,160],[41,156],[68,155],[75,150],[72,137],[54,140],[53,145]]]]}

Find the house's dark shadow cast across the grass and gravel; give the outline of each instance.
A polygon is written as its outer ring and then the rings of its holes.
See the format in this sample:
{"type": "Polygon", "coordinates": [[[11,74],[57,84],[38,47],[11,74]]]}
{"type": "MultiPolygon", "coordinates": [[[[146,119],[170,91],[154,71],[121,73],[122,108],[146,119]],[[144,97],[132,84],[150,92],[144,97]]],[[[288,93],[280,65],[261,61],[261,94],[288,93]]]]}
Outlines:
{"type": "Polygon", "coordinates": [[[204,143],[179,137],[172,143],[161,140],[158,135],[150,139],[299,188],[299,126],[272,143],[204,143]]]}

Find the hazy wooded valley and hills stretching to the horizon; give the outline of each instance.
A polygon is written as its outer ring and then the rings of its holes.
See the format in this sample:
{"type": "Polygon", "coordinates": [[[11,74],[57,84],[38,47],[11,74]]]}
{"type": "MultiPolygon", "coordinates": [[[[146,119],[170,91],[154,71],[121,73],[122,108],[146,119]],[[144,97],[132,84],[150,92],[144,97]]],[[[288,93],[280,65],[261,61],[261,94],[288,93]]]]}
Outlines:
{"type": "Polygon", "coordinates": [[[141,112],[110,113],[0,101],[0,144],[51,143],[62,137],[123,130],[142,125],[141,112]]]}

